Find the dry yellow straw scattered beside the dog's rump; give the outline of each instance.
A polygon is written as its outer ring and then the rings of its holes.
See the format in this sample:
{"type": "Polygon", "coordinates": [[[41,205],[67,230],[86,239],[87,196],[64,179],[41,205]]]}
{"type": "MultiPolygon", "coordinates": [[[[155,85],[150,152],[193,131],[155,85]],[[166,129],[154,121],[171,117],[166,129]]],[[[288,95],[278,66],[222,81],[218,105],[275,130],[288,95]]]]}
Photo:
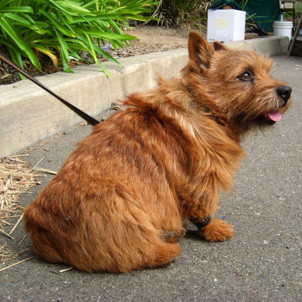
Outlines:
{"type": "Polygon", "coordinates": [[[13,232],[22,220],[24,208],[20,205],[21,194],[28,193],[31,187],[41,183],[38,179],[43,175],[37,172],[56,174],[37,167],[43,158],[30,168],[27,156],[23,154],[0,159],[0,264],[20,254],[8,249],[6,240],[13,239],[13,232]]]}

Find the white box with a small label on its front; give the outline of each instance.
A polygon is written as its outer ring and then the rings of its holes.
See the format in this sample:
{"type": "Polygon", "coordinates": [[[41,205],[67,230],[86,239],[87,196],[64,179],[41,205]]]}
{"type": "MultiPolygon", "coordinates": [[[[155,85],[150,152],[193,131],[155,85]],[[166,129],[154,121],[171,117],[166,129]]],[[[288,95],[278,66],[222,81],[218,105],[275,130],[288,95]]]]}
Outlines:
{"type": "Polygon", "coordinates": [[[208,41],[244,40],[245,11],[235,9],[208,10],[208,41]]]}

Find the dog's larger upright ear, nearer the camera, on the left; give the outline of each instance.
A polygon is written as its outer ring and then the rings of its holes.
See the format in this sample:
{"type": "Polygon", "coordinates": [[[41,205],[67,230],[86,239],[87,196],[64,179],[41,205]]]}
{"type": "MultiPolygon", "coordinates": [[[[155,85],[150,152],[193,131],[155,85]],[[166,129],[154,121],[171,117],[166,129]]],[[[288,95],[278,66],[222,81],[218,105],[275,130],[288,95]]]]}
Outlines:
{"type": "Polygon", "coordinates": [[[214,53],[213,46],[196,31],[189,33],[189,58],[196,66],[209,67],[210,58],[214,53]]]}

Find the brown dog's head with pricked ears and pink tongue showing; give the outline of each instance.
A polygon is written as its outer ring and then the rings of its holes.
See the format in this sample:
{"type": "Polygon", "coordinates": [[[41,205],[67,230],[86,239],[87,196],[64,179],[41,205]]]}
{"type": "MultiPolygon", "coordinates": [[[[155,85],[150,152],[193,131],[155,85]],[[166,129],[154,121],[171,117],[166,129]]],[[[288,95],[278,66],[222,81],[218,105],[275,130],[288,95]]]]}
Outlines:
{"type": "Polygon", "coordinates": [[[270,75],[272,60],[189,34],[183,76],[196,102],[220,115],[236,134],[272,125],[291,103],[291,88],[270,75]]]}

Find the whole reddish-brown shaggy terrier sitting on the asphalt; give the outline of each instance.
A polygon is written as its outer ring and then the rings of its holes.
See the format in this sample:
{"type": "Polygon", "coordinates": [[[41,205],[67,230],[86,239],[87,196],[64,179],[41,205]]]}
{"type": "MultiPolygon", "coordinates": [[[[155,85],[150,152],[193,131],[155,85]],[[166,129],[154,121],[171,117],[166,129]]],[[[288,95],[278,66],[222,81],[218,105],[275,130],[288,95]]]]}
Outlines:
{"type": "Polygon", "coordinates": [[[163,266],[181,252],[183,219],[208,241],[233,236],[213,218],[251,129],[281,119],[291,89],[253,52],[189,35],[181,79],[132,94],[97,124],[26,208],[33,249],[87,272],[163,266]]]}

